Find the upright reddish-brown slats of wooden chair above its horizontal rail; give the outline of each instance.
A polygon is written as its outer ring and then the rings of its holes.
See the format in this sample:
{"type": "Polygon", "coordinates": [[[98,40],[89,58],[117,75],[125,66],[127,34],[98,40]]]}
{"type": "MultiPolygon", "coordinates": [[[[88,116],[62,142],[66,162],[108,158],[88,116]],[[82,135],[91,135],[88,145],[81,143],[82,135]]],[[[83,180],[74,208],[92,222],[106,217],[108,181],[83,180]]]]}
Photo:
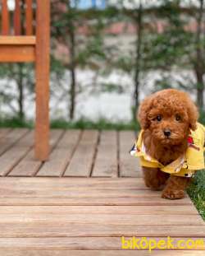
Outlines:
{"type": "Polygon", "coordinates": [[[36,2],[34,0],[12,1],[1,0],[1,35],[34,35],[36,2]],[[14,4],[12,11],[9,9],[9,2],[14,4]]]}

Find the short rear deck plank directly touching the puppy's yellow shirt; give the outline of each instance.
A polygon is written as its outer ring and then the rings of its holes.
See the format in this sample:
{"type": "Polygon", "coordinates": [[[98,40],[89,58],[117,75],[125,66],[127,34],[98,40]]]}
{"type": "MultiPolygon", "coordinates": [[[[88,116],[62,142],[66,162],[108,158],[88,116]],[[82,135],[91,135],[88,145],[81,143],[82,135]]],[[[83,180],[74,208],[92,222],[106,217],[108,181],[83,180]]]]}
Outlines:
{"type": "Polygon", "coordinates": [[[134,132],[120,132],[119,168],[121,177],[142,177],[139,159],[130,156],[130,149],[134,145],[134,132]]]}

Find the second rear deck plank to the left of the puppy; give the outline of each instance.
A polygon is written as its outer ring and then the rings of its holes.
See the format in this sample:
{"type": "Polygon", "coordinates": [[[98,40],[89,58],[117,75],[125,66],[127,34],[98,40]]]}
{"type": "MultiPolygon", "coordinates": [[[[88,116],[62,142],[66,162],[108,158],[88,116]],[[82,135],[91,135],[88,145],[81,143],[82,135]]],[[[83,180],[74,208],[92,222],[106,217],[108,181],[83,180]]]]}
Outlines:
{"type": "Polygon", "coordinates": [[[116,131],[103,131],[96,160],[93,166],[93,177],[117,177],[117,134],[116,131]]]}

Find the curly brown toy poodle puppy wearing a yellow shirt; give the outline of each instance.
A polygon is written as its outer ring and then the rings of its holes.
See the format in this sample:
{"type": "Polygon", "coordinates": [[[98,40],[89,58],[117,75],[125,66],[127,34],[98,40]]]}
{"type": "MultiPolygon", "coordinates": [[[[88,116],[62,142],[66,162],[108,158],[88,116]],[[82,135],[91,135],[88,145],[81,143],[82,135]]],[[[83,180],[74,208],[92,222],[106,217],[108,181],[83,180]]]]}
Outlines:
{"type": "Polygon", "coordinates": [[[142,130],[130,153],[139,157],[146,186],[163,189],[162,198],[184,198],[194,172],[204,169],[197,107],[185,92],[167,89],[142,102],[138,119],[142,130]]]}

